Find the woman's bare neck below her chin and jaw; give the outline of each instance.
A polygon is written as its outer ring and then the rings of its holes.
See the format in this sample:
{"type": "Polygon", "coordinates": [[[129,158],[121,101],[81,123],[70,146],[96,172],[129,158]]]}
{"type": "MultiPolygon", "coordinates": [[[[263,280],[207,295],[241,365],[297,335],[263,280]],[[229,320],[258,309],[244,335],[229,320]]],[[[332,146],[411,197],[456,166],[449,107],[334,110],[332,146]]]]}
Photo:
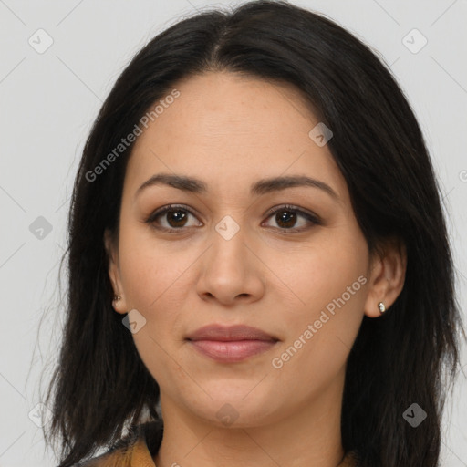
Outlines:
{"type": "Polygon", "coordinates": [[[201,419],[161,392],[164,431],[154,462],[157,467],[337,467],[344,456],[342,390],[343,377],[287,416],[242,427],[201,419]]]}

